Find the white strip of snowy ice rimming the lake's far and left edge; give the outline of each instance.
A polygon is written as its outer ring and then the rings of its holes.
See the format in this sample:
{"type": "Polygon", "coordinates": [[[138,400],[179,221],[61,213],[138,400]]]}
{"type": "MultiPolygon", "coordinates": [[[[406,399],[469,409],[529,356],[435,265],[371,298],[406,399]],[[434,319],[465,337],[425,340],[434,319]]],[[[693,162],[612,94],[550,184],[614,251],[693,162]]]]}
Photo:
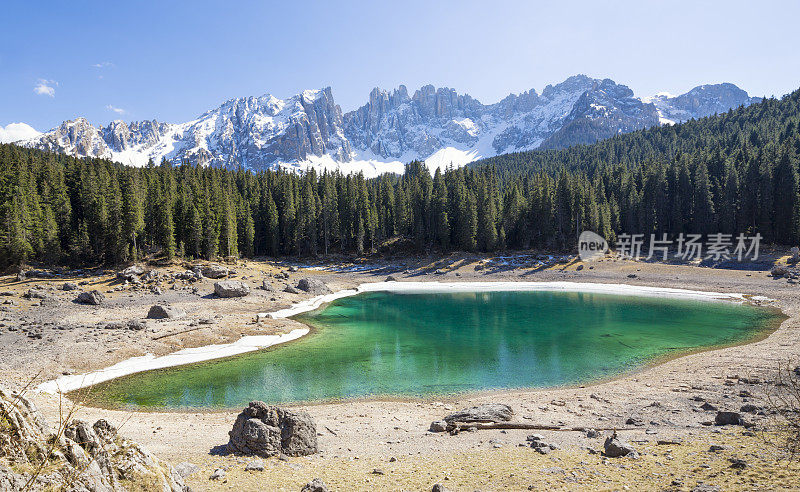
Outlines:
{"type": "MultiPolygon", "coordinates": [[[[721,293],[721,292],[707,292],[689,289],[675,289],[668,287],[651,287],[639,286],[630,284],[607,284],[607,283],[594,283],[594,282],[562,282],[562,281],[544,281],[544,282],[513,282],[513,281],[495,281],[495,282],[368,282],[358,285],[355,289],[342,289],[331,294],[323,294],[312,297],[308,300],[301,301],[293,304],[289,308],[274,311],[272,313],[259,313],[259,316],[266,316],[271,319],[284,319],[291,316],[296,316],[301,313],[313,311],[318,309],[324,304],[335,301],[337,299],[358,295],[365,292],[400,292],[400,293],[450,293],[450,292],[574,292],[574,293],[590,293],[590,294],[608,294],[619,296],[637,296],[637,297],[663,297],[663,298],[681,298],[687,300],[698,300],[703,302],[735,302],[746,303],[751,299],[755,300],[758,297],[760,302],[772,302],[773,299],[768,299],[762,296],[748,296],[747,294],[740,293],[721,293]]],[[[778,325],[780,326],[780,324],[778,325]]],[[[777,329],[777,328],[776,328],[777,329]]],[[[206,362],[211,360],[223,359],[236,355],[242,355],[257,350],[263,350],[283,344],[289,341],[297,340],[307,335],[311,330],[308,327],[296,328],[287,334],[282,335],[260,335],[260,336],[244,336],[241,339],[228,344],[212,344],[195,348],[184,348],[176,352],[172,352],[163,356],[155,356],[153,354],[146,354],[143,356],[131,357],[129,359],[118,362],[109,367],[92,371],[86,374],[77,375],[64,375],[54,380],[46,381],[36,387],[36,391],[48,394],[65,394],[71,391],[84,389],[98,383],[110,381],[112,379],[129,376],[141,372],[147,372],[157,369],[167,369],[171,367],[183,366],[199,362],[206,362]]],[[[774,331],[774,330],[773,330],[774,331]]],[[[757,340],[748,340],[745,343],[752,343],[757,340]]],[[[709,350],[714,350],[712,347],[709,350]]],[[[708,350],[702,350],[708,351],[708,350]]],[[[689,353],[692,353],[690,351],[689,353]]],[[[677,357],[687,354],[680,354],[677,357]]],[[[672,359],[669,357],[667,360],[672,359]]],[[[651,367],[653,364],[645,364],[643,367],[651,367]]],[[[616,375],[619,377],[627,371],[616,375]]],[[[602,381],[602,379],[601,379],[602,381]]],[[[559,386],[560,387],[560,386],[559,386]]],[[[531,389],[548,389],[548,388],[531,388],[531,389]]],[[[551,388],[552,389],[552,388],[551,388]]],[[[485,392],[478,392],[483,394],[485,392]]],[[[457,396],[457,395],[453,395],[457,396]]],[[[343,399],[349,401],[350,399],[343,399]]],[[[324,402],[323,402],[324,403],[324,402]]],[[[309,402],[299,402],[301,404],[309,404],[309,402]]],[[[191,409],[187,409],[191,410],[191,409]]],[[[195,410],[206,410],[197,409],[195,410]]],[[[224,409],[220,409],[224,410],[224,409]]]]}

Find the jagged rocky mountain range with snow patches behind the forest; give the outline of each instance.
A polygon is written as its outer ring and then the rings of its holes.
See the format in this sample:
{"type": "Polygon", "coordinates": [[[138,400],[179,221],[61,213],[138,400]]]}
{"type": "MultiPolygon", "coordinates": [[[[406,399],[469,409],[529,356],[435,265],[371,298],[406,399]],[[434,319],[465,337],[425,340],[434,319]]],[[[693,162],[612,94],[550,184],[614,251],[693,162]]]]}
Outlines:
{"type": "Polygon", "coordinates": [[[268,94],[231,99],[179,124],[114,121],[100,127],[77,118],[46,133],[28,132],[17,143],[135,166],[166,159],[376,175],[402,172],[413,159],[424,159],[433,169],[507,152],[591,143],[758,100],[733,84],[643,100],[613,80],[576,75],[541,94],[532,89],[488,105],[432,85],[413,94],[402,85],[392,91],[376,88],[367,104],[342,114],[328,87],[287,99],[268,94]]]}

